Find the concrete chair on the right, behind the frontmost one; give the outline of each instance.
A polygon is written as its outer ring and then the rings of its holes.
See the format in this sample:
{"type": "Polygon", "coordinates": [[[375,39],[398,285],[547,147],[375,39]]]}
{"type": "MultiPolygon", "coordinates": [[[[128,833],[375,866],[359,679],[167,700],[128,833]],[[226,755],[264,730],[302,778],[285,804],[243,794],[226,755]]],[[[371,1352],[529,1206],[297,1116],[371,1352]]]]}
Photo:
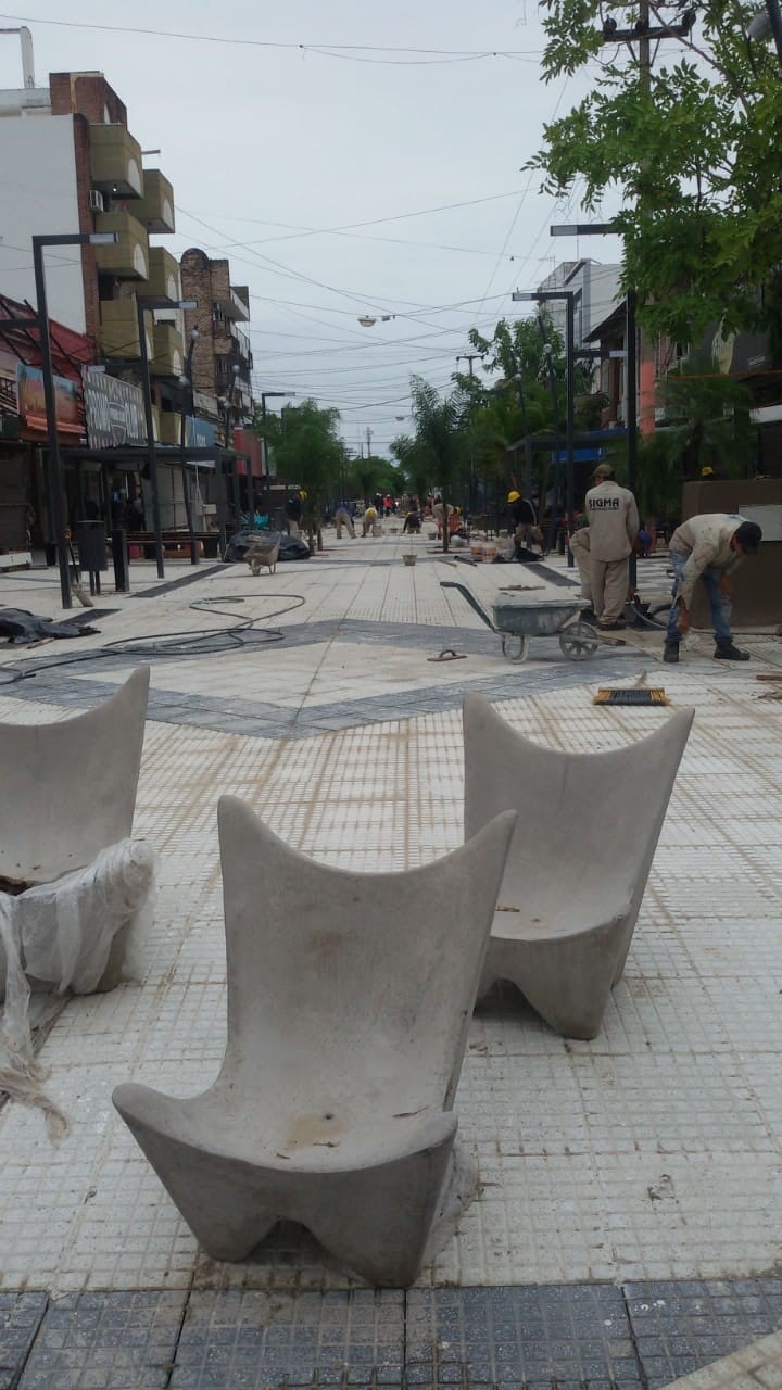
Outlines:
{"type": "Polygon", "coordinates": [[[598,1033],[693,714],[626,748],[562,753],[513,733],[483,696],[465,698],[465,835],[519,813],[479,998],[511,980],[558,1033],[598,1033]]]}

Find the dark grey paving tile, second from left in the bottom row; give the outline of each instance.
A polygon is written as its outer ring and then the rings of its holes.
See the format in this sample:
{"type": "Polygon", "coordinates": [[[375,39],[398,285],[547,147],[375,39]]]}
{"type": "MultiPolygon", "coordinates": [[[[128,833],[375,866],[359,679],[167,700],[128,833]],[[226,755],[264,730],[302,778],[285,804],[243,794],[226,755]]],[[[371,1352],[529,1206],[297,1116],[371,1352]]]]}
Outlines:
{"type": "Polygon", "coordinates": [[[82,1293],[49,1304],[19,1390],[166,1390],[186,1293],[82,1293]]]}

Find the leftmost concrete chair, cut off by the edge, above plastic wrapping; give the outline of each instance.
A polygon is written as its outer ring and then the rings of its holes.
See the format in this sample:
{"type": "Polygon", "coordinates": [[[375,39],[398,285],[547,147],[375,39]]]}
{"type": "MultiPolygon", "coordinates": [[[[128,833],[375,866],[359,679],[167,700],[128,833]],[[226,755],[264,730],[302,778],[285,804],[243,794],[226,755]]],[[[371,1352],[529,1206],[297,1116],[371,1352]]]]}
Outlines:
{"type": "MultiPolygon", "coordinates": [[[[0,891],[19,905],[25,888],[86,869],[131,835],[147,694],[143,666],[75,719],[0,724],[0,891]]],[[[127,930],[114,937],[99,990],[120,980],[127,930]]]]}

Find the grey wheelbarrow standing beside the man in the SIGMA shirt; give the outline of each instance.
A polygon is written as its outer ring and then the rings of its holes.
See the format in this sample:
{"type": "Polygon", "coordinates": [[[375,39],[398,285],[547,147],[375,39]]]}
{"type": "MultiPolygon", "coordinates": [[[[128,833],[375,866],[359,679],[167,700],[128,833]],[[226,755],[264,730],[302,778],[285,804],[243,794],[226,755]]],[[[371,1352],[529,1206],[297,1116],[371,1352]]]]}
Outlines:
{"type": "MultiPolygon", "coordinates": [[[[491,617],[474,594],[463,584],[441,581],[444,589],[459,589],[470,607],[483,619],[493,632],[502,638],[502,655],[509,662],[526,662],[530,637],[558,637],[564,656],[572,662],[583,662],[594,656],[600,637],[589,623],[580,621],[582,600],[548,600],[534,603],[526,599],[498,596],[491,605],[491,617]]],[[[615,644],[612,644],[615,645],[615,644]]]]}

